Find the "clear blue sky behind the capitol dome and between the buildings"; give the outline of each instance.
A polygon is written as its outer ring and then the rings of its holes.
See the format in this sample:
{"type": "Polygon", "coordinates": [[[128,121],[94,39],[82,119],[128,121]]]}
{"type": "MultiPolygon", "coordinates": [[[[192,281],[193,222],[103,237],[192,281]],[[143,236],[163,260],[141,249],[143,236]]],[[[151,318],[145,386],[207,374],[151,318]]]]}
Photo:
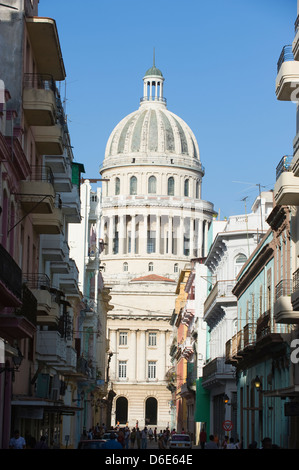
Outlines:
{"type": "Polygon", "coordinates": [[[275,96],[277,60],[294,39],[296,0],[40,0],[54,18],[67,72],[62,96],[74,156],[88,178],[110,133],[139,107],[153,61],[170,111],[193,130],[202,199],[221,219],[247,211],[293,153],[295,105],[275,96]],[[66,90],[66,94],[65,94],[66,90]]]}

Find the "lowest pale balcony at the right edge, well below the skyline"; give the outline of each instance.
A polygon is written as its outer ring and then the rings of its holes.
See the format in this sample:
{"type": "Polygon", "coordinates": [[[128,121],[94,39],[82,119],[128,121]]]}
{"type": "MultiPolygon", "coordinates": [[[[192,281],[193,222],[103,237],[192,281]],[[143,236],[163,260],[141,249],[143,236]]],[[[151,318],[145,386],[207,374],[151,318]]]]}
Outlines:
{"type": "MultiPolygon", "coordinates": [[[[296,305],[296,292],[294,292],[293,301],[296,305]]],[[[275,287],[274,318],[277,323],[299,323],[299,310],[293,310],[290,279],[280,281],[275,287]]]]}

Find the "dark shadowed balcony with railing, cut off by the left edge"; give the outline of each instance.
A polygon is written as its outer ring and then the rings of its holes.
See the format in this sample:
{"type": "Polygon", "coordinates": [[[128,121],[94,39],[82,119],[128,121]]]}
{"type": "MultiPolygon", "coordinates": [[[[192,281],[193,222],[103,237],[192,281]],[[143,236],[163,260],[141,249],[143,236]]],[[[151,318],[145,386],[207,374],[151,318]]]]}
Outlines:
{"type": "Polygon", "coordinates": [[[22,270],[0,244],[0,308],[22,303],[22,270]]]}

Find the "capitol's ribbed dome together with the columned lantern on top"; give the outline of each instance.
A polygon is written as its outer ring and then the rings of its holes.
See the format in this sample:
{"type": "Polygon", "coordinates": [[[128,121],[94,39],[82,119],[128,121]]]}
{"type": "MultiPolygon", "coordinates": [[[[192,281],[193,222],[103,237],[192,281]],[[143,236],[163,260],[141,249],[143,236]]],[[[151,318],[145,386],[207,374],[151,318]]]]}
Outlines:
{"type": "Polygon", "coordinates": [[[195,159],[198,164],[199,148],[192,130],[183,119],[167,109],[162,72],[153,65],[145,73],[143,82],[144,93],[139,109],[114,128],[106,145],[105,160],[164,155],[195,159]]]}

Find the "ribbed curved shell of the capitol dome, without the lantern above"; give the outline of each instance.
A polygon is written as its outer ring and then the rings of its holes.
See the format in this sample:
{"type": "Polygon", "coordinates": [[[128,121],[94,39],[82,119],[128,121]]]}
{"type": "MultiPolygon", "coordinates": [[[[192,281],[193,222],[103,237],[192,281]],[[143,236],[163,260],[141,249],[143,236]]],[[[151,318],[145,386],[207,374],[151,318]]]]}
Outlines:
{"type": "Polygon", "coordinates": [[[126,116],[108,139],[105,158],[132,154],[173,154],[199,160],[198,144],[189,126],[157,102],[141,105],[126,116]]]}

